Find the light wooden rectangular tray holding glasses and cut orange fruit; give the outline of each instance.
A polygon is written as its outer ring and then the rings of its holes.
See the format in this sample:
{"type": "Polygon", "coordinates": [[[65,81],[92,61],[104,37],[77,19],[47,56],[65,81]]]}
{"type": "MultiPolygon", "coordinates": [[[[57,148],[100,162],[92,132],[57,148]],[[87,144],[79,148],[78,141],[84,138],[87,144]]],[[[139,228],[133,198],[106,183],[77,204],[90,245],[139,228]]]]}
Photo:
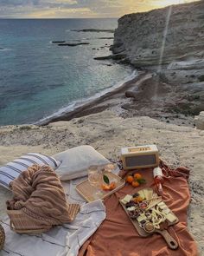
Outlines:
{"type": "Polygon", "coordinates": [[[110,181],[115,181],[116,182],[116,187],[114,189],[112,189],[111,191],[100,190],[101,191],[101,195],[96,198],[95,197],[95,193],[97,191],[99,191],[99,189],[97,189],[95,187],[92,187],[88,180],[83,181],[80,184],[78,184],[76,186],[76,191],[87,202],[91,202],[91,201],[97,200],[97,199],[102,199],[103,200],[107,196],[109,196],[110,194],[113,194],[114,192],[116,192],[121,187],[124,187],[125,181],[122,178],[120,178],[118,175],[112,174],[112,173],[109,173],[109,172],[105,172],[104,174],[108,176],[110,181]]]}

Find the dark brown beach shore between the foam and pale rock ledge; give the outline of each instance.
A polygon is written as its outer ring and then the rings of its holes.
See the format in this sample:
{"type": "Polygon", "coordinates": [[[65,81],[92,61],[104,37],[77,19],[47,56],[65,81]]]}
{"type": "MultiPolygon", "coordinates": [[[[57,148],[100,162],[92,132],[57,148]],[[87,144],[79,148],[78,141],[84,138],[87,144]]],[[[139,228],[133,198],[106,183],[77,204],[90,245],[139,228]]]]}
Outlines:
{"type": "Polygon", "coordinates": [[[183,109],[176,108],[181,95],[178,95],[175,88],[177,86],[163,82],[154,71],[137,70],[137,76],[118,88],[71,111],[37,121],[35,125],[45,126],[55,121],[70,121],[73,118],[111,110],[123,118],[149,116],[178,126],[194,127],[194,115],[185,113],[186,105],[183,109]]]}

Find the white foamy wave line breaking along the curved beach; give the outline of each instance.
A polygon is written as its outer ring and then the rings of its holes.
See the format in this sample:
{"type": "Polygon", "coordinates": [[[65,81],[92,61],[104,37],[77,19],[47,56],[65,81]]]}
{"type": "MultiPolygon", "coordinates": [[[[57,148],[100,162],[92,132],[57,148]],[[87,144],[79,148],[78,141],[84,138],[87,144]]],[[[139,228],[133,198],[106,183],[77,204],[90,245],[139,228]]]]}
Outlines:
{"type": "Polygon", "coordinates": [[[115,89],[118,89],[118,88],[122,87],[125,82],[130,82],[132,79],[136,78],[137,75],[138,75],[137,70],[133,70],[132,74],[125,77],[123,81],[117,82],[115,85],[113,85],[109,88],[103,89],[99,93],[96,93],[95,95],[92,95],[88,98],[84,98],[84,99],[81,99],[81,100],[71,102],[66,107],[59,109],[57,112],[54,112],[54,114],[43,117],[39,121],[35,121],[33,124],[41,125],[44,122],[52,121],[52,119],[54,119],[55,117],[59,117],[61,115],[65,115],[67,113],[70,113],[74,109],[82,107],[86,103],[92,102],[93,100],[95,100],[95,99],[97,99],[97,98],[99,98],[99,97],[101,97],[101,96],[103,96],[103,95],[105,95],[109,92],[112,92],[115,89]]]}

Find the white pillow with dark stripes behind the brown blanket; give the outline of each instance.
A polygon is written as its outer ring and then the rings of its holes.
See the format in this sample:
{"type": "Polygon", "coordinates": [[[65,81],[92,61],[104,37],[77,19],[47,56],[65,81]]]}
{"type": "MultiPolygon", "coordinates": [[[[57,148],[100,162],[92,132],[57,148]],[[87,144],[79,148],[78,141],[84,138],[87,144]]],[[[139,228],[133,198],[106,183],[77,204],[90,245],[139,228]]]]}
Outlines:
{"type": "Polygon", "coordinates": [[[45,154],[29,153],[22,155],[14,161],[10,161],[4,167],[0,167],[0,186],[9,188],[10,181],[16,179],[19,174],[34,164],[48,165],[57,168],[61,162],[45,154]]]}

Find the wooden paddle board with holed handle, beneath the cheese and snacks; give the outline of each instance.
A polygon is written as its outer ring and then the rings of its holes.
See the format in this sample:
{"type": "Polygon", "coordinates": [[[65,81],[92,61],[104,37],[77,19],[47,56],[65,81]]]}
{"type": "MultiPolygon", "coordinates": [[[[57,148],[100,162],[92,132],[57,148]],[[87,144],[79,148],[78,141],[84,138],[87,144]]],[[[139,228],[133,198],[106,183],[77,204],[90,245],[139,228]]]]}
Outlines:
{"type": "MultiPolygon", "coordinates": [[[[119,200],[121,206],[124,208],[124,212],[127,213],[128,215],[128,212],[126,210],[126,207],[125,205],[123,204],[123,202],[121,200],[119,200]]],[[[170,211],[170,213],[172,213],[174,216],[175,214],[170,211]]],[[[172,250],[175,250],[177,247],[178,247],[178,243],[174,240],[174,238],[172,238],[169,234],[169,232],[166,230],[166,229],[155,229],[153,232],[151,233],[147,233],[141,226],[139,226],[139,223],[137,220],[135,219],[131,219],[131,217],[128,215],[129,219],[131,220],[131,223],[133,224],[133,226],[135,226],[135,228],[137,229],[137,233],[139,233],[140,236],[143,236],[143,237],[148,237],[149,235],[153,234],[153,233],[160,233],[162,236],[163,236],[163,239],[167,242],[168,246],[170,249],[172,250]]],[[[175,216],[176,220],[174,222],[169,222],[169,220],[166,220],[165,223],[166,223],[166,227],[168,226],[173,226],[175,225],[176,223],[178,223],[178,218],[175,216]]]]}

